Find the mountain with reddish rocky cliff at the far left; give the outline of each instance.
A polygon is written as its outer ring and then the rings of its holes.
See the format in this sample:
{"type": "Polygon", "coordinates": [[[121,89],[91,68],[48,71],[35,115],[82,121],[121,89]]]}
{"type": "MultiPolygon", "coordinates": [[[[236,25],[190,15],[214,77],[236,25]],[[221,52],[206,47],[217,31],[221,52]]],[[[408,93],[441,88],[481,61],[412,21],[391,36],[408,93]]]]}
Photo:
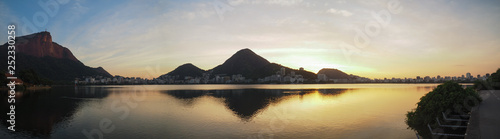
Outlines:
{"type": "MultiPolygon", "coordinates": [[[[0,46],[0,60],[7,61],[7,46],[0,46]]],[[[72,81],[82,76],[111,77],[102,67],[92,68],[80,62],[66,47],[52,42],[50,32],[38,32],[16,37],[16,72],[33,69],[43,78],[54,81],[72,81]]],[[[7,67],[7,62],[0,62],[7,67]]]]}

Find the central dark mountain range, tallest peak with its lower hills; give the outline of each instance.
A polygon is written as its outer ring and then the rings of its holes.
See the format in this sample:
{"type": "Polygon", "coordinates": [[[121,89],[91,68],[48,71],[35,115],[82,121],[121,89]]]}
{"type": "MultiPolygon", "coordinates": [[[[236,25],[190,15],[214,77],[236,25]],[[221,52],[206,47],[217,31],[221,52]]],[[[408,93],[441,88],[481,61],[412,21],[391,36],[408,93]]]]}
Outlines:
{"type": "MultiPolygon", "coordinates": [[[[223,64],[218,65],[213,69],[205,71],[191,63],[188,63],[160,76],[160,78],[163,76],[178,76],[178,79],[184,79],[186,76],[201,77],[203,73],[210,73],[211,76],[231,76],[241,74],[249,79],[259,79],[274,75],[276,72],[280,71],[281,68],[285,68],[286,74],[290,74],[291,71],[293,71],[295,74],[302,75],[305,79],[317,79],[317,74],[313,72],[301,69],[292,69],[281,64],[271,63],[248,48],[239,50],[223,64]]],[[[337,69],[322,69],[319,74],[325,74],[330,79],[348,79],[350,77],[346,73],[337,69]]]]}

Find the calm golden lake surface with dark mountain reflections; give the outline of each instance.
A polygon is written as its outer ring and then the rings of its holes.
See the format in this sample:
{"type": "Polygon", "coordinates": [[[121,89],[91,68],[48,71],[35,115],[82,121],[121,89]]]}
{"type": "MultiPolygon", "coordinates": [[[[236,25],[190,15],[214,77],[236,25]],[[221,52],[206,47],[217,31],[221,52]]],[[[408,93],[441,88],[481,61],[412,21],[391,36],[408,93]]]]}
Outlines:
{"type": "Polygon", "coordinates": [[[18,92],[0,138],[408,138],[437,84],[135,85],[18,92]],[[104,127],[104,128],[102,128],[104,127]],[[86,135],[87,134],[87,135],[86,135]]]}

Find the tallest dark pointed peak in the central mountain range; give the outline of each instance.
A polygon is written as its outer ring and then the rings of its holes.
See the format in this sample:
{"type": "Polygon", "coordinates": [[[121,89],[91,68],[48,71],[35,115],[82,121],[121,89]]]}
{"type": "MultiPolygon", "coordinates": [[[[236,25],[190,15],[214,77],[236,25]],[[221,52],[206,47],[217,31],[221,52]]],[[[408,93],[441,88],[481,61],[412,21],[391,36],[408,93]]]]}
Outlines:
{"type": "Polygon", "coordinates": [[[239,50],[222,65],[219,65],[209,71],[212,75],[226,74],[236,75],[241,74],[245,77],[250,77],[254,71],[270,64],[263,57],[255,54],[252,50],[246,48],[239,50]]]}

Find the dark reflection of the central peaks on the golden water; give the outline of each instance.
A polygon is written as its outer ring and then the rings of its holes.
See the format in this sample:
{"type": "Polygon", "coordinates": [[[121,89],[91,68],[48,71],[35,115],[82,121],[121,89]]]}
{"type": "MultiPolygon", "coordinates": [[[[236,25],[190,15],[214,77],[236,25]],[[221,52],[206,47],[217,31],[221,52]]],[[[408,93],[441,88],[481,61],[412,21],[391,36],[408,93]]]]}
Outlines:
{"type": "Polygon", "coordinates": [[[203,96],[212,96],[224,100],[224,104],[243,121],[250,121],[257,113],[272,103],[280,103],[291,96],[304,96],[318,92],[324,96],[336,96],[345,89],[239,89],[239,90],[168,90],[168,94],[190,106],[203,96]]]}

